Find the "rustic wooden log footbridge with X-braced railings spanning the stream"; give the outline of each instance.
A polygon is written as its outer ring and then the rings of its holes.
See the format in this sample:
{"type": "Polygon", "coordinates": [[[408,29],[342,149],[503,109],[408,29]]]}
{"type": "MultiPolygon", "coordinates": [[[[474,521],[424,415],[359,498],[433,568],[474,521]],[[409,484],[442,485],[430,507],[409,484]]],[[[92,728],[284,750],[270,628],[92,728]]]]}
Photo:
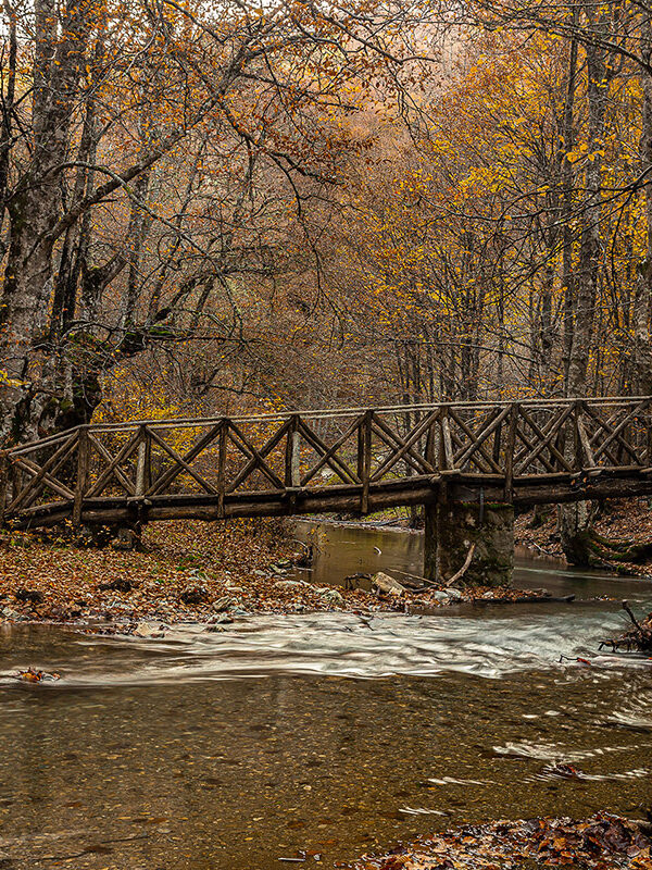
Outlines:
{"type": "Polygon", "coordinates": [[[14,527],[652,494],[652,397],[79,426],[5,450],[14,527]]]}

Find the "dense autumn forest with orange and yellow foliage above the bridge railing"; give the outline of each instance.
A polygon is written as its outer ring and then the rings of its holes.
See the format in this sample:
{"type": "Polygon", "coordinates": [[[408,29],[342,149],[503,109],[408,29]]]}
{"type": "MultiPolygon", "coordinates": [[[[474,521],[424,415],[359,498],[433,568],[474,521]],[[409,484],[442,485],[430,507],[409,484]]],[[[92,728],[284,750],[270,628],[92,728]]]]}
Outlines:
{"type": "Polygon", "coordinates": [[[3,3],[0,431],[652,390],[641,3],[3,3]]]}

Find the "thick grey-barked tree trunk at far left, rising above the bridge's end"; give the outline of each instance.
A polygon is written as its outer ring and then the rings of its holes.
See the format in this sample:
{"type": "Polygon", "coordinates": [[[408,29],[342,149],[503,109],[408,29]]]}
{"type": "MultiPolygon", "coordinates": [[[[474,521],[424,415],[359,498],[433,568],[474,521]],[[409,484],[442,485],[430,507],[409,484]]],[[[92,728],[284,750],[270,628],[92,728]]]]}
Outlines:
{"type": "Polygon", "coordinates": [[[59,215],[53,203],[67,156],[90,20],[86,3],[74,0],[61,26],[54,0],[35,0],[34,10],[34,150],[8,209],[11,244],[0,310],[0,360],[7,374],[0,397],[3,442],[34,435],[53,397],[55,362],[47,330],[52,226],[59,215]]]}

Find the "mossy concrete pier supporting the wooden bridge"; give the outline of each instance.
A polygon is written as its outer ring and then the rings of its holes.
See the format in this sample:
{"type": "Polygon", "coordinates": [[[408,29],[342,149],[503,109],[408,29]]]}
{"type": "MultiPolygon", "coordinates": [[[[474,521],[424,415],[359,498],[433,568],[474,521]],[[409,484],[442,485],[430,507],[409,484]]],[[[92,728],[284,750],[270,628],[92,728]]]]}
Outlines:
{"type": "Polygon", "coordinates": [[[468,586],[504,586],[514,569],[514,508],[503,504],[444,501],[425,506],[424,576],[446,583],[473,557],[468,586]]]}

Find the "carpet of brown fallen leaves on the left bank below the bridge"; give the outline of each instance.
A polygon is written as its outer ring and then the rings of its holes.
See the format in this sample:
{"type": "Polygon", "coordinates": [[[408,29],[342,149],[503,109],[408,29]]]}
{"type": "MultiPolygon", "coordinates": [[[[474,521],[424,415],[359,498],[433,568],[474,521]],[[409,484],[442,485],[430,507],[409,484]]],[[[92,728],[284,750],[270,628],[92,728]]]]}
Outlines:
{"type": "Polygon", "coordinates": [[[289,557],[303,554],[273,521],[153,523],[146,547],[78,548],[14,534],[0,548],[0,621],[203,622],[221,610],[214,607],[221,600],[240,612],[397,608],[368,593],[342,589],[339,597],[311,583],[279,582],[291,577],[289,557]]]}

